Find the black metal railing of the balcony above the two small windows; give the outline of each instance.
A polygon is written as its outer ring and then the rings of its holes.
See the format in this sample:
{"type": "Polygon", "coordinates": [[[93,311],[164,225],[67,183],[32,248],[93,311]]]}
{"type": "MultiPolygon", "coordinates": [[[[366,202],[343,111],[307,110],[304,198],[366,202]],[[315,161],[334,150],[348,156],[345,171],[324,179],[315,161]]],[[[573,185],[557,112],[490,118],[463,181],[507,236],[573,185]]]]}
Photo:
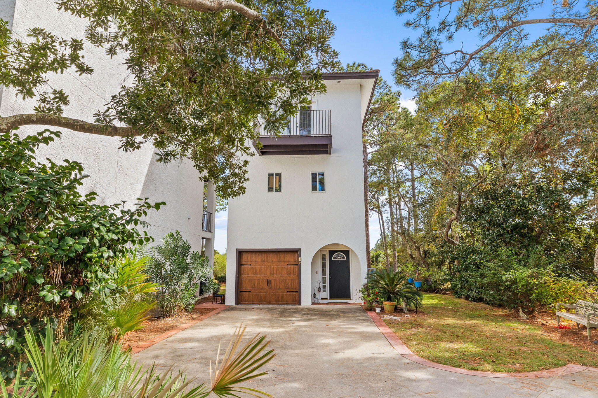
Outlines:
{"type": "MultiPolygon", "coordinates": [[[[261,136],[277,135],[266,131],[264,124],[257,121],[256,131],[261,136]]],[[[289,118],[286,127],[279,131],[279,135],[330,135],[330,110],[300,110],[297,116],[289,118]]]]}

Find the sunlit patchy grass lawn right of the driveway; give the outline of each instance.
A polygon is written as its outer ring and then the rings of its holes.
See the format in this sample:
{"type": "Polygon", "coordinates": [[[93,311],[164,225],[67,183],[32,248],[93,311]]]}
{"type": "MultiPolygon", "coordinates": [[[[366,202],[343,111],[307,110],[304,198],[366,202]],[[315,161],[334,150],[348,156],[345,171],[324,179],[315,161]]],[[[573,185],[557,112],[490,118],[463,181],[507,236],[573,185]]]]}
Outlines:
{"type": "Polygon", "coordinates": [[[513,319],[507,310],[441,294],[425,294],[423,306],[425,315],[395,313],[400,319],[384,319],[422,358],[491,372],[598,366],[596,353],[542,335],[541,326],[513,319]]]}

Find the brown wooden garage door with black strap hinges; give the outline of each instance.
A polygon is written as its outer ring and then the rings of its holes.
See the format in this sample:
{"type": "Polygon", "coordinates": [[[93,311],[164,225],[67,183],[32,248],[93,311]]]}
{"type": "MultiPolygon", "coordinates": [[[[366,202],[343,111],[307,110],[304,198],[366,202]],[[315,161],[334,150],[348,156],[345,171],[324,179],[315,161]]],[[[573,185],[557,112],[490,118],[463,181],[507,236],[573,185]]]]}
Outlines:
{"type": "Polygon", "coordinates": [[[239,304],[299,304],[297,252],[239,252],[239,304]]]}

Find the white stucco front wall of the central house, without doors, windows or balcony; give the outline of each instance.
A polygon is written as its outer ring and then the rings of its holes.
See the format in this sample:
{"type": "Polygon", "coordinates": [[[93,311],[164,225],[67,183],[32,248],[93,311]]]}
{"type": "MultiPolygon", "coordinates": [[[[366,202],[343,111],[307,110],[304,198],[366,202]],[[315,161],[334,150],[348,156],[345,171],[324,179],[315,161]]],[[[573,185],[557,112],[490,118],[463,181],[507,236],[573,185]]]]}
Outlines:
{"type": "Polygon", "coordinates": [[[239,249],[300,249],[300,303],[310,305],[321,280],[322,249],[350,249],[351,301],[365,277],[362,122],[375,78],[327,76],[313,98],[330,110],[330,155],[249,158],[245,195],[228,202],[227,297],[236,304],[239,249]],[[281,192],[267,192],[267,174],[281,173],[281,192]],[[325,172],[325,192],[312,192],[312,172],[325,172]]]}

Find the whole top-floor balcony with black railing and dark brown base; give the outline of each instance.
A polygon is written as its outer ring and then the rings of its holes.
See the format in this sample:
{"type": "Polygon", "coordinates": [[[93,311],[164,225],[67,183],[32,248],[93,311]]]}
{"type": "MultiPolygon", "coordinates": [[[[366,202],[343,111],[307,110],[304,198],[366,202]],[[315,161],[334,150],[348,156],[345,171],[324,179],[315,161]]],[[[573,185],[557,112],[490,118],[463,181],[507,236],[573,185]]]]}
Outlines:
{"type": "Polygon", "coordinates": [[[260,121],[255,128],[262,147],[257,141],[254,147],[263,156],[330,155],[332,150],[329,109],[300,110],[278,134],[267,132],[260,121]]]}

